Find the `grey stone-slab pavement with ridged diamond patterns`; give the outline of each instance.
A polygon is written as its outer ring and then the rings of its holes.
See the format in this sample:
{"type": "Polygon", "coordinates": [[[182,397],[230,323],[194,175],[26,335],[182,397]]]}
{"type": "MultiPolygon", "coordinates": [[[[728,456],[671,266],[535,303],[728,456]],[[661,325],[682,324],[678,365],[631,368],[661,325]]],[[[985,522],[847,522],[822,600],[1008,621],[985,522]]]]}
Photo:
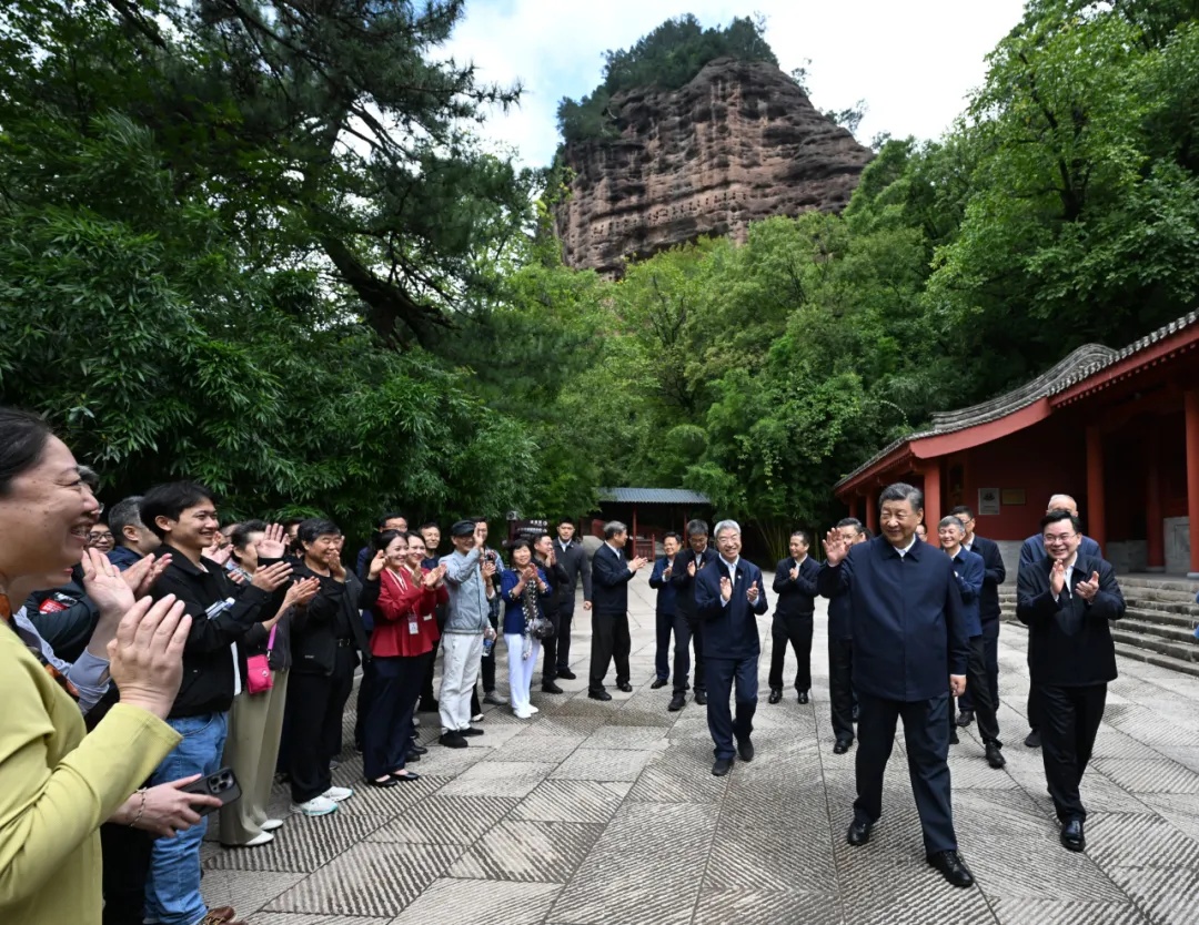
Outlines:
{"type": "MultiPolygon", "coordinates": [[[[669,687],[650,690],[644,578],[629,597],[632,694],[588,700],[589,622],[577,609],[580,678],[562,682],[565,696],[535,693],[531,721],[489,709],[487,734],[462,750],[433,744],[415,785],[361,787],[348,751],[335,780],[357,793],[337,814],[287,816],[260,848],[205,846],[209,902],[253,925],[1199,921],[1199,681],[1120,659],[1083,782],[1087,851],[1072,854],[1058,842],[1041,754],[1023,745],[1025,635],[1005,625],[1008,766],[987,767],[974,727],[950,760],[958,839],[978,881],[957,890],[923,863],[902,731],[874,839],[844,841],[854,752],[832,754],[824,601],[808,706],[790,690],[766,705],[760,621],[758,755],[717,779],[704,708],[668,713],[669,687]]],[[[789,678],[793,665],[789,655],[789,678]]],[[[502,657],[499,675],[502,691],[502,657]]],[[[429,743],[436,719],[422,719],[429,743]]],[[[276,799],[285,814],[282,787],[276,799]]]]}

